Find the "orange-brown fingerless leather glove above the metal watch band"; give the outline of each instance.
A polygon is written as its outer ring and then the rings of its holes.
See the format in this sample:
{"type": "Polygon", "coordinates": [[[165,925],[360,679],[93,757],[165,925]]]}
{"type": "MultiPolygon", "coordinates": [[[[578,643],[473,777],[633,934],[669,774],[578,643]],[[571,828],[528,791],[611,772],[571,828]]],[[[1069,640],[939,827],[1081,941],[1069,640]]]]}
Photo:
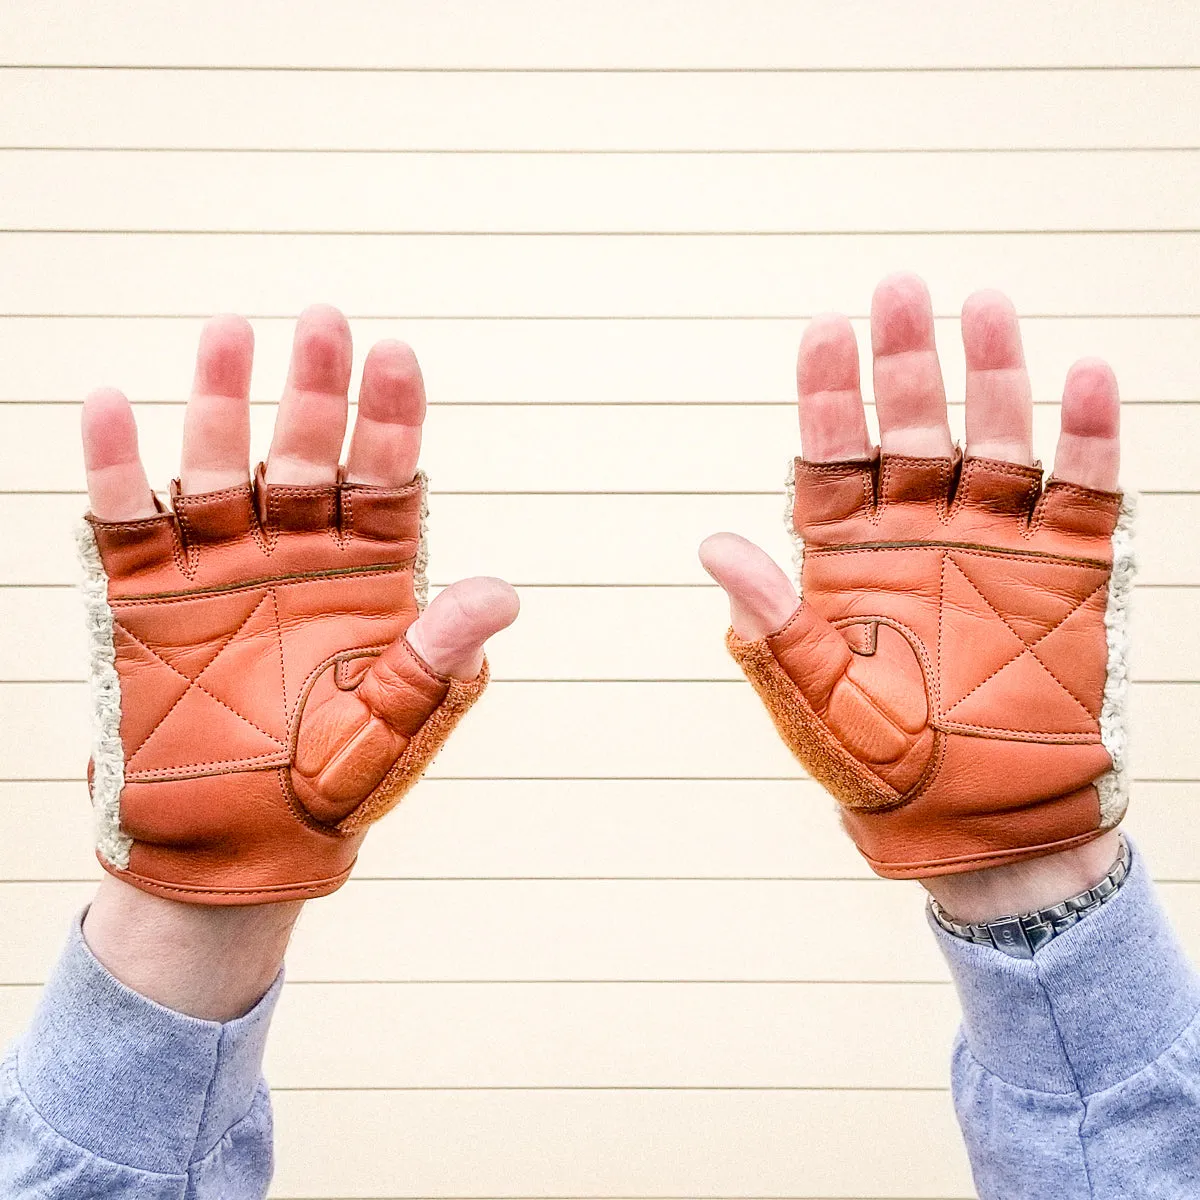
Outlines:
{"type": "Polygon", "coordinates": [[[878,875],[1018,862],[1120,822],[1128,511],[989,458],[797,461],[803,602],[728,646],[878,875]]]}

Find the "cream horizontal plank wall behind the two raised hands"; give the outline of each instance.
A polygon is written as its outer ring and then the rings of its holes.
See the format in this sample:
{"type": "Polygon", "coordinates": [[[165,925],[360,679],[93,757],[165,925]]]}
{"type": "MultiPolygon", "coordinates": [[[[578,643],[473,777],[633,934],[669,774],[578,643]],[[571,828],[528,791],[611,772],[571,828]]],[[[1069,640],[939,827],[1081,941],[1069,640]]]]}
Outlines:
{"type": "MultiPolygon", "coordinates": [[[[407,337],[439,580],[497,683],[305,914],[272,1195],[965,1198],[953,992],[721,648],[695,545],[786,559],[803,318],[1006,288],[1117,367],[1145,494],[1132,828],[1200,953],[1200,18],[1190,0],[0,6],[0,1037],[96,877],[78,400],[174,469],[199,319],[407,337]],[[847,935],[846,923],[859,930],[847,935]]],[[[961,425],[961,409],[955,410],[961,425]]]]}

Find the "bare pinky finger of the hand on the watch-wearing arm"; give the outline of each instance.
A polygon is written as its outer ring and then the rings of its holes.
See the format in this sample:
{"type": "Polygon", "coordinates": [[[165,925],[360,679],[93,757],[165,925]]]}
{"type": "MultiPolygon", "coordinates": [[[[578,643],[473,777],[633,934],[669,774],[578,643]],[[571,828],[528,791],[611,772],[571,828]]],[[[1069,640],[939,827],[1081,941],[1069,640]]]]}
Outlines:
{"type": "Polygon", "coordinates": [[[1054,478],[1112,492],[1121,466],[1121,397],[1102,359],[1080,359],[1067,372],[1054,478]]]}

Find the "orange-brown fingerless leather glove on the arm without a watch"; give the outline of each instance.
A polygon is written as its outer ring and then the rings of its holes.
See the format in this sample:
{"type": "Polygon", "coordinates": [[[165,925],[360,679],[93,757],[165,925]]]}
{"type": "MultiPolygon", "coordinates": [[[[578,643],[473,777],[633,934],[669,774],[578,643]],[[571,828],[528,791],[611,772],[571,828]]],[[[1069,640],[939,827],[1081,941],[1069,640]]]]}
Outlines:
{"type": "Polygon", "coordinates": [[[97,857],[192,904],[326,895],[486,683],[434,674],[401,636],[424,478],[294,487],[259,467],[172,503],[79,535],[97,857]]]}

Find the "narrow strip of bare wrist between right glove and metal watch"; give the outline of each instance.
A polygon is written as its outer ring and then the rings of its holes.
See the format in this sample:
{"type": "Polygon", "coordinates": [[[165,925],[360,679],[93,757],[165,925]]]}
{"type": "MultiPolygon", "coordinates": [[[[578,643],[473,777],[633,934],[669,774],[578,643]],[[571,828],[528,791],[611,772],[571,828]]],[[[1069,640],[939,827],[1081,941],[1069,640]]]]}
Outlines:
{"type": "Polygon", "coordinates": [[[1112,829],[1057,854],[937,876],[922,880],[922,884],[954,920],[982,924],[1048,908],[1096,887],[1112,868],[1120,850],[1120,834],[1112,829]]]}

